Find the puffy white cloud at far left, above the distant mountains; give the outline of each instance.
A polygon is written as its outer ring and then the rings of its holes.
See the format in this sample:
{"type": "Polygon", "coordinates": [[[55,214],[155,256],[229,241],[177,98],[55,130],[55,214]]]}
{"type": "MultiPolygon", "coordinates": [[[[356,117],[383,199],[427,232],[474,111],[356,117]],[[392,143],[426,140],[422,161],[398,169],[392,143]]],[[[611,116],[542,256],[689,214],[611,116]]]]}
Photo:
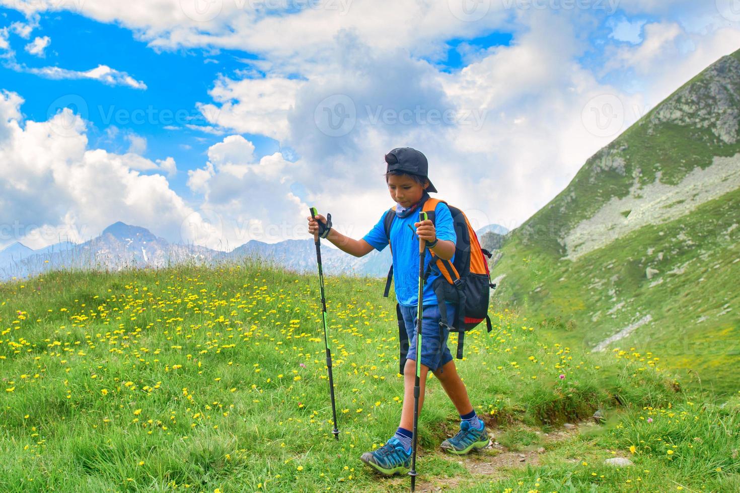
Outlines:
{"type": "Polygon", "coordinates": [[[0,94],[0,223],[19,225],[3,242],[41,248],[57,242],[58,231],[84,241],[114,218],[178,241],[192,209],[164,176],[136,171],[172,171],[174,160],[157,166],[135,154],[88,149],[86,123],[70,109],[47,121],[23,120],[22,102],[16,93],[0,94]]]}

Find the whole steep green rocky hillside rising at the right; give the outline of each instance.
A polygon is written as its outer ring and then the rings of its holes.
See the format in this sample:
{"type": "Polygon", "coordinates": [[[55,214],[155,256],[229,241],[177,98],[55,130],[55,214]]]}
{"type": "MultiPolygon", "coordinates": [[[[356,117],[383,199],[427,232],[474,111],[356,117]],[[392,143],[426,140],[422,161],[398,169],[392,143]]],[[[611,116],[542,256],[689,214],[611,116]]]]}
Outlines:
{"type": "Polygon", "coordinates": [[[497,304],[585,350],[654,351],[696,385],[736,390],[739,122],[740,51],[597,152],[508,235],[493,267],[497,304]]]}

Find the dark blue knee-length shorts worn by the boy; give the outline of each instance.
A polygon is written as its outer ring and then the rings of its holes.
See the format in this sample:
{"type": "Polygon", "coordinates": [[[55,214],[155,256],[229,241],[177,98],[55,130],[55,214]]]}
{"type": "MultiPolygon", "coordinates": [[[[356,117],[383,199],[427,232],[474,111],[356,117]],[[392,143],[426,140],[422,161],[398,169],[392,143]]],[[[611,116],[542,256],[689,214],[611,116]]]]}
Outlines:
{"type": "MultiPolygon", "coordinates": [[[[455,319],[457,315],[457,306],[445,303],[447,307],[447,323],[455,319]]],[[[417,307],[399,305],[401,315],[403,315],[403,324],[406,326],[408,334],[408,353],[406,359],[416,361],[417,350],[417,307]]],[[[425,305],[421,319],[421,364],[435,372],[452,361],[452,353],[447,347],[447,336],[449,330],[443,328],[440,330],[440,308],[437,305],[425,305]]],[[[403,348],[402,348],[403,350],[403,348]]]]}

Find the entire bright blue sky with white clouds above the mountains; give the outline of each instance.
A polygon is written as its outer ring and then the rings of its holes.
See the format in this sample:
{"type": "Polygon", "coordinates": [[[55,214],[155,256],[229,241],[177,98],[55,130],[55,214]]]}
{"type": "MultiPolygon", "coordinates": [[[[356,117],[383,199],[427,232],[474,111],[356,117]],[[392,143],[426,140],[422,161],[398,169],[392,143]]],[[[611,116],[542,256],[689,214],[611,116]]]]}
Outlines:
{"type": "Polygon", "coordinates": [[[485,15],[465,19],[454,0],[283,11],[212,0],[203,5],[215,15],[198,18],[188,1],[0,0],[0,154],[14,161],[0,173],[24,181],[6,180],[0,222],[27,225],[0,248],[40,248],[50,231],[81,241],[117,220],[173,242],[277,241],[300,237],[309,203],[346,211],[340,222],[360,237],[388,206],[383,154],[406,145],[428,154],[440,197],[514,228],[593,152],[740,47],[732,4],[483,1],[485,15]],[[599,98],[623,109],[608,134],[584,120],[599,98]],[[336,101],[354,111],[342,135],[319,121],[324,104],[340,115],[336,101]],[[54,129],[65,107],[78,118],[68,135],[29,128],[54,129]],[[371,118],[420,108],[407,123],[371,118]],[[439,125],[434,111],[454,121],[439,125]],[[58,201],[41,207],[35,186],[58,201]],[[100,189],[81,198],[84,186],[100,189]],[[184,238],[193,219],[209,232],[184,238]]]}

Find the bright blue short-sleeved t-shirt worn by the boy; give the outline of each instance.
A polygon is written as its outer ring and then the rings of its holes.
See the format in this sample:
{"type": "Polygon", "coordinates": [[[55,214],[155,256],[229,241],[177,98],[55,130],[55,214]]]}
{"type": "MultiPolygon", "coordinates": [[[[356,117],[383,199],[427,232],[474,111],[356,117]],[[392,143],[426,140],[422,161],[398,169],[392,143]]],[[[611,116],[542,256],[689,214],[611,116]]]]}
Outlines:
{"type": "MultiPolygon", "coordinates": [[[[387,212],[387,211],[386,211],[387,212]]],[[[383,227],[383,218],[380,217],[376,225],[363,239],[373,248],[382,251],[388,246],[386,228],[383,227]]],[[[438,203],[434,208],[434,228],[437,229],[437,239],[440,241],[457,241],[455,228],[452,222],[450,209],[444,203],[438,203]]],[[[414,222],[419,221],[419,211],[414,211],[407,217],[396,217],[391,224],[391,252],[393,253],[393,277],[396,288],[396,299],[401,305],[416,306],[419,297],[419,239],[415,234],[414,222]],[[413,232],[408,228],[411,225],[413,232]]],[[[429,249],[426,249],[424,265],[431,259],[429,249]]],[[[450,262],[454,261],[454,256],[450,262]]],[[[426,267],[425,267],[426,268],[426,267]]],[[[441,276],[437,265],[432,263],[431,273],[424,285],[423,305],[437,305],[437,296],[431,289],[434,279],[441,276]]]]}

